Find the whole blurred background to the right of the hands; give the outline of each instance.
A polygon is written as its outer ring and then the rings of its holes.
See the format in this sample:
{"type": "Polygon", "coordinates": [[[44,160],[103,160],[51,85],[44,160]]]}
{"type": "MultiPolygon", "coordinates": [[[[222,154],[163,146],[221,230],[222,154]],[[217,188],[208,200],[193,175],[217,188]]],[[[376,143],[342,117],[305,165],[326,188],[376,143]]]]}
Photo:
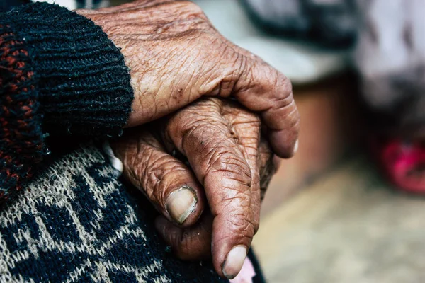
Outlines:
{"type": "Polygon", "coordinates": [[[254,238],[268,282],[425,282],[425,25],[412,1],[355,2],[196,1],[293,81],[300,148],[254,238]]]}

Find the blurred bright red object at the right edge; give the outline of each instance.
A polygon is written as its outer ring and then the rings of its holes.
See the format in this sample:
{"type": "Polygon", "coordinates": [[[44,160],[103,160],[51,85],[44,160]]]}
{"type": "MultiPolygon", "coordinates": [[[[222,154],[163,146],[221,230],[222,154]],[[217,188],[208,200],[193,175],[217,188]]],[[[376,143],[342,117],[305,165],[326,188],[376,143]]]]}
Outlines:
{"type": "Polygon", "coordinates": [[[373,151],[387,176],[400,190],[425,194],[425,143],[400,139],[373,142],[373,151]]]}

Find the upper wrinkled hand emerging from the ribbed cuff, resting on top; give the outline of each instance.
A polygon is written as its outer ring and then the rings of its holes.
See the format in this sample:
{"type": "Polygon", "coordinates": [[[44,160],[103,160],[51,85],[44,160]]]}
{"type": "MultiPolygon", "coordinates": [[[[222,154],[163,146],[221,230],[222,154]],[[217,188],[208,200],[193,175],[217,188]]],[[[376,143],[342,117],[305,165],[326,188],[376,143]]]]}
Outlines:
{"type": "Polygon", "coordinates": [[[101,25],[125,56],[135,91],[128,127],[202,96],[232,96],[261,113],[278,156],[293,155],[300,119],[290,81],[222,37],[196,4],[140,0],[77,12],[101,25]]]}

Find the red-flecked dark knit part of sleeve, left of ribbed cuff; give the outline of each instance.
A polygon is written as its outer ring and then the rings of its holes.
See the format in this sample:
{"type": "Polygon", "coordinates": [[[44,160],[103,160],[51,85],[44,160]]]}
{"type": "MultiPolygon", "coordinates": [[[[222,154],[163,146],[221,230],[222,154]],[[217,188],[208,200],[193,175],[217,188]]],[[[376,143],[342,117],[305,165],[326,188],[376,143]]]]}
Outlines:
{"type": "Polygon", "coordinates": [[[46,154],[37,82],[23,41],[0,23],[0,202],[46,154]]]}

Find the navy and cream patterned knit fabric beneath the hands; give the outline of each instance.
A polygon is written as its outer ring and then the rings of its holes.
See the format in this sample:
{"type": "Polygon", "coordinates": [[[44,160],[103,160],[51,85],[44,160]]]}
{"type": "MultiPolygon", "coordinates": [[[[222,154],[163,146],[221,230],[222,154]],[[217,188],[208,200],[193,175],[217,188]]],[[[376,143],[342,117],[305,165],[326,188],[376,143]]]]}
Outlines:
{"type": "Polygon", "coordinates": [[[227,282],[208,262],[174,259],[142,195],[130,195],[113,170],[96,147],[81,146],[8,202],[0,282],[227,282]]]}

